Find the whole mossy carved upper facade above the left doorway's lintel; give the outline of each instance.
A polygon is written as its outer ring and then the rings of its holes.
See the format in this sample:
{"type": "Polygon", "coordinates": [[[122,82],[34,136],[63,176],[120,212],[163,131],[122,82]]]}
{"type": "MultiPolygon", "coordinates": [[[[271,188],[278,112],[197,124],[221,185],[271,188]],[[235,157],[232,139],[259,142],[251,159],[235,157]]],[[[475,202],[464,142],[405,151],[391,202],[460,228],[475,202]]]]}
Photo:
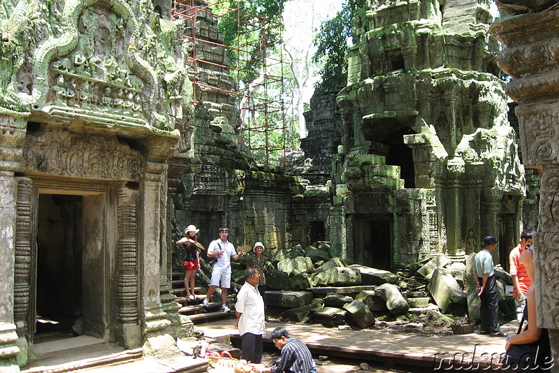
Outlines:
{"type": "Polygon", "coordinates": [[[177,136],[191,94],[173,49],[182,24],[140,9],[124,0],[3,4],[0,112],[177,136]]]}

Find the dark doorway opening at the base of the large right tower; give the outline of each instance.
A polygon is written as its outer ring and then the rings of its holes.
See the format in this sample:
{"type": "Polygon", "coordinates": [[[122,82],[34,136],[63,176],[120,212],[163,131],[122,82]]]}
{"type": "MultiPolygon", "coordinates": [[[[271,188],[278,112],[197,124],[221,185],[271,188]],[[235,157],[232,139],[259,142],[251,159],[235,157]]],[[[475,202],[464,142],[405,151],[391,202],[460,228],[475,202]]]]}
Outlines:
{"type": "Polygon", "coordinates": [[[354,258],[357,264],[392,270],[392,233],[389,219],[356,219],[354,258]]]}

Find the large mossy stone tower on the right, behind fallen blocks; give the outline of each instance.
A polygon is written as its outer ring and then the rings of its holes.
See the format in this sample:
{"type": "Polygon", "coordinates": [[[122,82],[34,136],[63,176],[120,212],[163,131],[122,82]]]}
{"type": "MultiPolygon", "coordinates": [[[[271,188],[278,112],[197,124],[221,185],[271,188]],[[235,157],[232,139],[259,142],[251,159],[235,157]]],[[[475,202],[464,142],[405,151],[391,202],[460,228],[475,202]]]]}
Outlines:
{"type": "Polygon", "coordinates": [[[489,3],[375,0],[356,18],[330,215],[342,227],[331,244],[350,260],[460,260],[496,235],[505,263],[518,240],[525,173],[489,3]]]}

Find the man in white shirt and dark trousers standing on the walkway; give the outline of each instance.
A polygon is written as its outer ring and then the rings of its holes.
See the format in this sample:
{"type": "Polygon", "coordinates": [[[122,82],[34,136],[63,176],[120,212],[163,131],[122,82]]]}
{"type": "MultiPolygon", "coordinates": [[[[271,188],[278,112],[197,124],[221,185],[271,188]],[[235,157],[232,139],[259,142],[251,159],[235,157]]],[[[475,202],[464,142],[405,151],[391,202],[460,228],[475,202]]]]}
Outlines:
{"type": "Polygon", "coordinates": [[[262,361],[262,335],[266,329],[264,300],[258,291],[260,274],[256,268],[245,270],[245,284],[237,294],[235,315],[241,336],[241,358],[250,363],[262,361]]]}

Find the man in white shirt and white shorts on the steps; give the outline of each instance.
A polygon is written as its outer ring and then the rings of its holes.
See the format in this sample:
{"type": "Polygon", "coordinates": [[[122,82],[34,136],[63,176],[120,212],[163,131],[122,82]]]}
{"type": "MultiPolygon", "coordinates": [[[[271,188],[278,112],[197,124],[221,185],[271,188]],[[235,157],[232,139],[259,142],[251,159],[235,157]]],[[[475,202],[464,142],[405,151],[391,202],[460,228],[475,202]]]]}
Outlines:
{"type": "Polygon", "coordinates": [[[237,254],[233,244],[228,242],[228,228],[219,228],[218,233],[219,240],[212,241],[210,246],[208,246],[208,258],[217,258],[217,263],[215,263],[212,268],[212,281],[210,283],[210,288],[208,288],[208,294],[206,294],[205,300],[203,301],[203,306],[208,307],[210,305],[210,298],[215,288],[221,285],[222,311],[230,312],[231,309],[226,306],[226,302],[227,290],[231,287],[231,258],[233,258],[234,261],[238,261],[242,256],[242,252],[237,254]]]}

